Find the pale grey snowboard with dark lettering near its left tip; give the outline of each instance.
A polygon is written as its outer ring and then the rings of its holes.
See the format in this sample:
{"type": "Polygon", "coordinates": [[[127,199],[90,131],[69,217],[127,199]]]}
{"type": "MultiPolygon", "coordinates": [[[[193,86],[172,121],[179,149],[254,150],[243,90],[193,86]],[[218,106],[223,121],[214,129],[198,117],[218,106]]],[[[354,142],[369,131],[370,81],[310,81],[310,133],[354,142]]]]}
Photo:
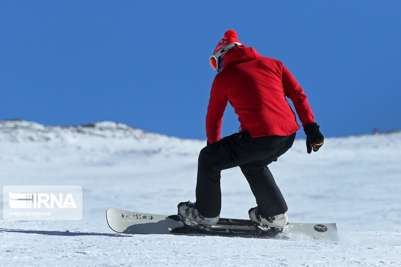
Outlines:
{"type": "Polygon", "coordinates": [[[123,234],[219,235],[338,243],[335,223],[288,223],[284,229],[270,229],[255,225],[251,220],[220,218],[216,225],[203,227],[188,225],[178,215],[158,215],[109,208],[107,224],[111,230],[123,234]]]}

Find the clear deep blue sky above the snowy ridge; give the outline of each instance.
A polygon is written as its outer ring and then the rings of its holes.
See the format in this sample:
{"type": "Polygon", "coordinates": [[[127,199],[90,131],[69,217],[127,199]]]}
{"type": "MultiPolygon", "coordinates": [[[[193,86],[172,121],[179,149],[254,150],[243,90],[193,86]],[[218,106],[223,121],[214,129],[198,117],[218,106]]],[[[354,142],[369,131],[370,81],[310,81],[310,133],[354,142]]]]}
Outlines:
{"type": "MultiPolygon", "coordinates": [[[[293,73],[324,136],[401,129],[400,13],[395,0],[1,0],[0,119],[206,139],[208,60],[233,29],[293,73]]],[[[227,107],[222,137],[238,127],[227,107]]]]}

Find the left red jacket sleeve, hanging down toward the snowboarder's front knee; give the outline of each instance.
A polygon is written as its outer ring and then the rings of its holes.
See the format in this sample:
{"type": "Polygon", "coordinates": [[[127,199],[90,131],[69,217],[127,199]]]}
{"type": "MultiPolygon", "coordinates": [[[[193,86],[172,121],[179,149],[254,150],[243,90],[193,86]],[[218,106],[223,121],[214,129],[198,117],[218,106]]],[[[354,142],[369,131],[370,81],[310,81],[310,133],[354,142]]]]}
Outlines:
{"type": "Polygon", "coordinates": [[[209,144],[221,139],[221,122],[223,114],[227,107],[227,96],[225,90],[217,85],[216,80],[213,81],[210,91],[209,105],[206,114],[206,136],[209,144]]]}

